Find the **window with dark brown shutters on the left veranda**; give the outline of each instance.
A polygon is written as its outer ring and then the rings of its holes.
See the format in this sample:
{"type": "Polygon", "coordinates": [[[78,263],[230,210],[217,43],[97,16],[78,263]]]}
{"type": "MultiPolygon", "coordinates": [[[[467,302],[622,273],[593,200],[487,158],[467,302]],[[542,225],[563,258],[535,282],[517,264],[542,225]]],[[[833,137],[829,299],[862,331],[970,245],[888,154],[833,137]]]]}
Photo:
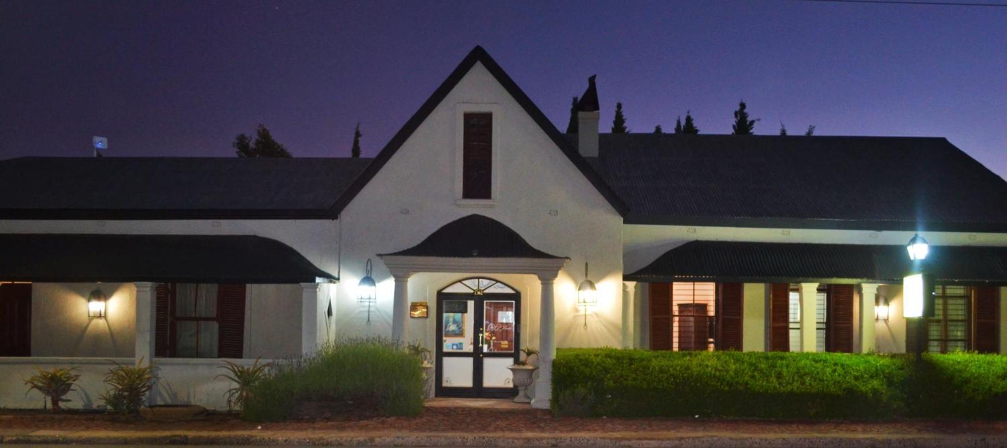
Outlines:
{"type": "Polygon", "coordinates": [[[242,358],[245,285],[158,285],[154,352],[170,358],[242,358]]]}

